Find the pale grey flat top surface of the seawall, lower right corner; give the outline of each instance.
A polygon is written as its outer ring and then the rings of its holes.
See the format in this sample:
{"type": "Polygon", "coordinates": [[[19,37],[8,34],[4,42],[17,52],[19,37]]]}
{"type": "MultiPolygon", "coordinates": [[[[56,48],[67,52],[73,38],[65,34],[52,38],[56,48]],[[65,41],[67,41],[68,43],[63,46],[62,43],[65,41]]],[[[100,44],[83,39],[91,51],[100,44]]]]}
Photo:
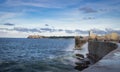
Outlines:
{"type": "MultiPolygon", "coordinates": [[[[120,72],[120,44],[117,49],[111,51],[101,60],[82,72],[120,72]]],[[[102,53],[102,52],[101,52],[102,53]]]]}

